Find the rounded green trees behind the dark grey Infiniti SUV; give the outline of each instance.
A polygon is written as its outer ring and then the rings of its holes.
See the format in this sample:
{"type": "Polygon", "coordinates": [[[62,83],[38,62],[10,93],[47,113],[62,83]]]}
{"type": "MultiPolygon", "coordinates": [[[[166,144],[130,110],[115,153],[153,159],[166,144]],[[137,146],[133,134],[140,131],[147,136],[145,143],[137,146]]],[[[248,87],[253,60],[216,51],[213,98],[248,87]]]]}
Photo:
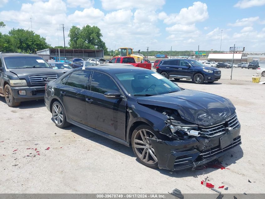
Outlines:
{"type": "Polygon", "coordinates": [[[13,28],[8,34],[16,41],[17,50],[34,52],[35,50],[50,48],[50,45],[46,43],[46,39],[35,34],[32,30],[13,28]]]}

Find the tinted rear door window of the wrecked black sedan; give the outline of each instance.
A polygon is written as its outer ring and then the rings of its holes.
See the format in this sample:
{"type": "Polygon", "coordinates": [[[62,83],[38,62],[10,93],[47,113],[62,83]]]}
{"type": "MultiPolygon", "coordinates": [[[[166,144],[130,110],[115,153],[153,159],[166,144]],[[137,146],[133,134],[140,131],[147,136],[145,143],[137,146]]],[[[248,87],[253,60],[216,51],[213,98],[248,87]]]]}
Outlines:
{"type": "Polygon", "coordinates": [[[73,72],[67,80],[67,86],[87,89],[87,83],[88,83],[90,74],[91,74],[91,71],[89,70],[78,70],[78,71],[73,72]]]}

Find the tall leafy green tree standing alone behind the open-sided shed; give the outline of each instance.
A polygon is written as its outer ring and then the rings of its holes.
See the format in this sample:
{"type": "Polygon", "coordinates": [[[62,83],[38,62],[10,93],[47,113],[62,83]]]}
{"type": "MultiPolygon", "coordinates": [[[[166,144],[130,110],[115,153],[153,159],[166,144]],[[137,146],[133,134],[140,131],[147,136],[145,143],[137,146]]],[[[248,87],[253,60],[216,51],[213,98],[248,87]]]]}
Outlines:
{"type": "Polygon", "coordinates": [[[77,26],[72,26],[68,37],[69,46],[73,49],[102,49],[107,53],[107,47],[104,41],[102,41],[102,34],[97,26],[86,25],[82,29],[77,26]]]}

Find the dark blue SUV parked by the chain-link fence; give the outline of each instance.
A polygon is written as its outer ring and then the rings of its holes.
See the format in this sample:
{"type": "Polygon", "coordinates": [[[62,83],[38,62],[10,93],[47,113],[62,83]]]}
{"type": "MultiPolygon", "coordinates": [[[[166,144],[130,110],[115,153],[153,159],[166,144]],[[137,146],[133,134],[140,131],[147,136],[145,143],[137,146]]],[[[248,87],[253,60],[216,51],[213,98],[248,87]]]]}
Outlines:
{"type": "Polygon", "coordinates": [[[156,67],[156,72],[166,78],[192,80],[195,84],[212,83],[221,78],[219,69],[204,66],[194,59],[164,59],[156,67]]]}

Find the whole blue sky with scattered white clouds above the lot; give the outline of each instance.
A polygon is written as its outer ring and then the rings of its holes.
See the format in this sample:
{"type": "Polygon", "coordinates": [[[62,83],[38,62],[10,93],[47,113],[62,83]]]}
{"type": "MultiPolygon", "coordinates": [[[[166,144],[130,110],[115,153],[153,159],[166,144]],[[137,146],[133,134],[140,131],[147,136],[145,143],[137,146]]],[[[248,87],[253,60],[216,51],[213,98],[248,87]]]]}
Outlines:
{"type": "Polygon", "coordinates": [[[110,49],[220,50],[230,46],[265,50],[265,0],[0,0],[0,21],[32,29],[52,46],[63,45],[61,24],[97,25],[110,49]],[[57,31],[58,27],[58,31],[57,31]]]}

